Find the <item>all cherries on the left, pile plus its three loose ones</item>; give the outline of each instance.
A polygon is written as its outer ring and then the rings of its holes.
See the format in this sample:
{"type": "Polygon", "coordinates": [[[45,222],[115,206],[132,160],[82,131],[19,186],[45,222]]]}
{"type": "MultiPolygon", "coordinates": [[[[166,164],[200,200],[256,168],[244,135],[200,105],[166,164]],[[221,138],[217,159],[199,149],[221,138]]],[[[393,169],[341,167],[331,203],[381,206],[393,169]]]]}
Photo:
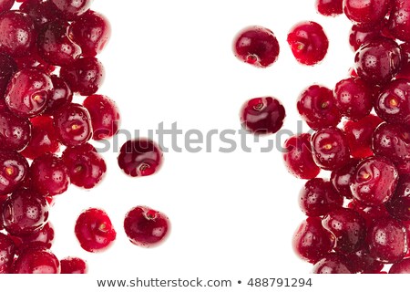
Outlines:
{"type": "MultiPolygon", "coordinates": [[[[48,216],[70,184],[93,188],[107,170],[89,141],[115,135],[120,120],[115,102],[97,94],[105,72],[96,56],[110,25],[90,10],[92,0],[16,2],[0,0],[0,274],[86,273],[83,259],[58,260],[50,251],[48,216]]],[[[131,176],[152,174],[161,161],[158,146],[143,139],[126,142],[118,156],[131,176]]],[[[149,247],[168,235],[169,220],[137,206],[124,229],[132,243],[149,247]]],[[[116,238],[108,214],[97,208],[79,215],[75,234],[89,252],[116,238]]]]}

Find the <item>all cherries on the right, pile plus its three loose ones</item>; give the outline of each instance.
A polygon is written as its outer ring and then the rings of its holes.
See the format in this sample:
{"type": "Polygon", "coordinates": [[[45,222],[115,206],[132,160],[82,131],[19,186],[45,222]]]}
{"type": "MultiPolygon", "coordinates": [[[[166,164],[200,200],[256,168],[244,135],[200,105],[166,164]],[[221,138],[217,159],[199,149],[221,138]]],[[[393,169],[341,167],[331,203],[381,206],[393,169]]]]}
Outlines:
{"type": "MultiPolygon", "coordinates": [[[[307,218],[293,249],[313,273],[385,273],[386,264],[389,273],[410,273],[410,2],[317,0],[316,8],[353,22],[354,68],[334,89],[315,84],[297,100],[314,132],[284,142],[289,172],[307,180],[299,195],[307,218]]],[[[287,40],[304,65],[326,55],[317,23],[293,26],[287,40]]],[[[234,52],[265,68],[279,45],[272,31],[251,26],[235,38],[234,52]]],[[[279,130],[283,118],[274,98],[251,99],[241,110],[254,133],[279,130]]]]}

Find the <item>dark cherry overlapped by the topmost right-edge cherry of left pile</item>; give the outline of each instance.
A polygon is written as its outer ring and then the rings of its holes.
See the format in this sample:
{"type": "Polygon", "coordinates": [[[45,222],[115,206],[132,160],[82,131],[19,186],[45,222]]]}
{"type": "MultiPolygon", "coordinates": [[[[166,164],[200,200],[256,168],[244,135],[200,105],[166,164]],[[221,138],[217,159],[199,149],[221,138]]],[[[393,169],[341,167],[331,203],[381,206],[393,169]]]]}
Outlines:
{"type": "Polygon", "coordinates": [[[56,20],[41,26],[37,36],[40,57],[56,66],[67,66],[81,54],[81,48],[67,36],[68,22],[56,20]]]}

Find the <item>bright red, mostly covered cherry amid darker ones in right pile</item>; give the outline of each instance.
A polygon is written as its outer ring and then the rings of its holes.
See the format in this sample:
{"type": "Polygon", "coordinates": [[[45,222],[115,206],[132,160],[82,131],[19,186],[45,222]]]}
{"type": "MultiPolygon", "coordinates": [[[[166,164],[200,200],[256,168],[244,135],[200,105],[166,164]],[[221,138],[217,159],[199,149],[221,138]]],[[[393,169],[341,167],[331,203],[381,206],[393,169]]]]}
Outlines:
{"type": "Polygon", "coordinates": [[[372,156],[372,141],[374,130],[383,122],[372,114],[361,120],[347,120],[343,131],[349,144],[350,153],[354,158],[362,159],[372,156]]]}

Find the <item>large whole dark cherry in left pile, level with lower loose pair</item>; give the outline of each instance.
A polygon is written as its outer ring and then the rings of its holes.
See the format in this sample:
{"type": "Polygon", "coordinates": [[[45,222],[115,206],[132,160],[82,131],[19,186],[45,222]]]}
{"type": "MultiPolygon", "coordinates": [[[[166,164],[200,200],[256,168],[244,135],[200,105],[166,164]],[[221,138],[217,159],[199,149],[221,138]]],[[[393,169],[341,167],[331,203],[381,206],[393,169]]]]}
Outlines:
{"type": "Polygon", "coordinates": [[[48,219],[46,198],[29,189],[19,189],[3,205],[3,223],[11,235],[30,235],[48,219]]]}

